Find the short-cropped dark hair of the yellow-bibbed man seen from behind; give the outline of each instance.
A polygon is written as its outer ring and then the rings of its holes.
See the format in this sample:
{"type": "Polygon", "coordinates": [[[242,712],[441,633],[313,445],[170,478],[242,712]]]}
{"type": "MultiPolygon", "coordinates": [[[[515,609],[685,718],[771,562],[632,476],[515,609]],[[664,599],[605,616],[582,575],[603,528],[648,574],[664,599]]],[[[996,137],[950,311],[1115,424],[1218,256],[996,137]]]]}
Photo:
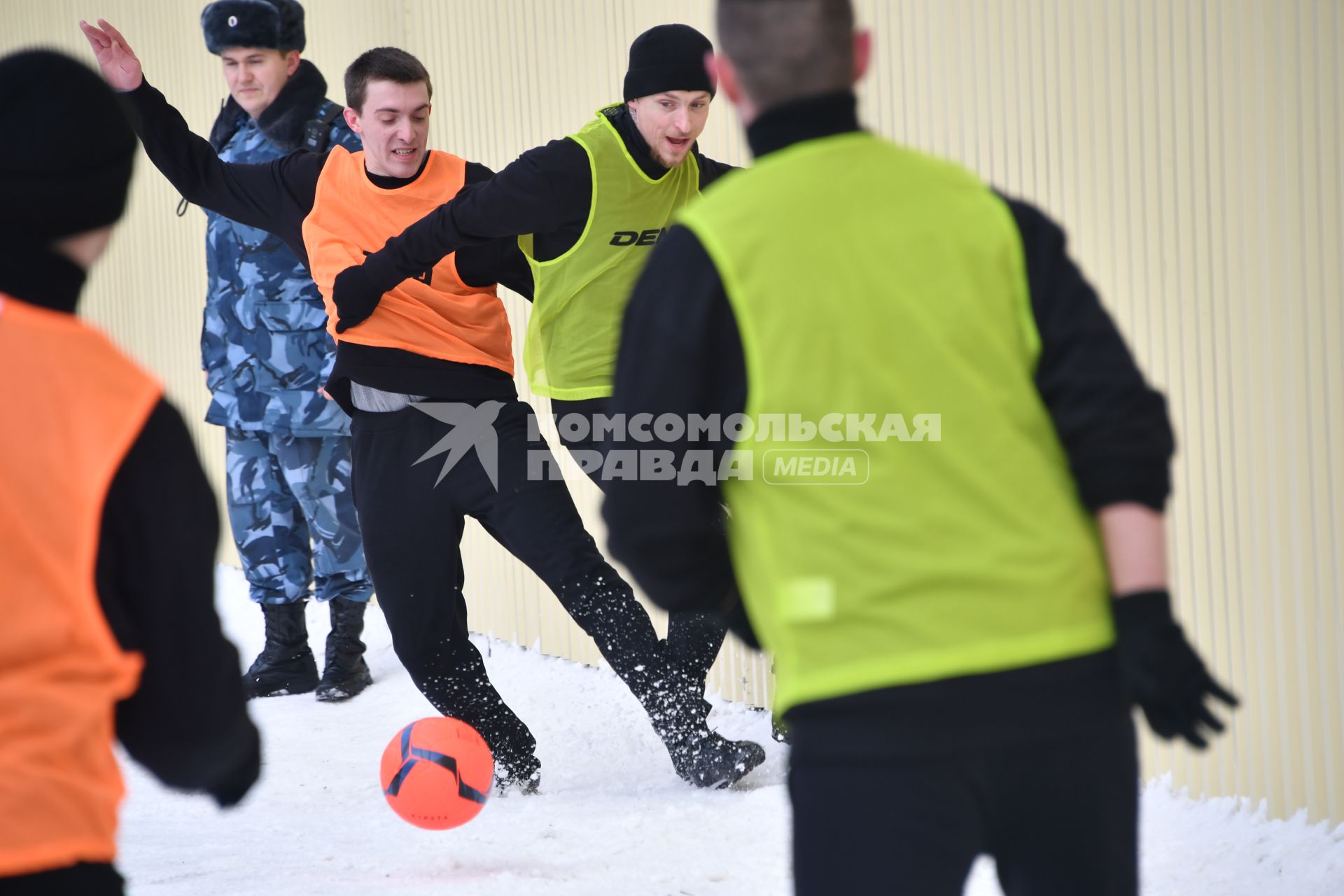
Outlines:
{"type": "Polygon", "coordinates": [[[719,46],[761,109],[853,83],[849,0],[719,0],[718,19],[719,46]]]}

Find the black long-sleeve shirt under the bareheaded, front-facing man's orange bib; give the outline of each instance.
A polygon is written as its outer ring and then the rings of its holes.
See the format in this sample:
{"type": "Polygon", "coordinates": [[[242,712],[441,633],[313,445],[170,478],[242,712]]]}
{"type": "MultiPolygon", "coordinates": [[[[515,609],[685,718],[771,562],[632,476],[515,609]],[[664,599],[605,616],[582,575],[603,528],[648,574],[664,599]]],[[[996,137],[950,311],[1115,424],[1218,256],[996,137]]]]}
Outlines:
{"type": "MultiPolygon", "coordinates": [[[[261,165],[224,163],[207,140],[191,133],[177,110],[148,81],[122,95],[149,160],[187,201],[274,234],[308,266],[302,226],[313,210],[317,179],[329,150],[300,150],[261,165]]],[[[493,173],[485,165],[469,161],[465,181],[478,184],[493,173]]],[[[383,189],[405,187],[418,176],[418,172],[405,179],[368,175],[383,189]]],[[[532,294],[532,274],[513,240],[482,240],[462,249],[456,262],[457,273],[468,286],[503,283],[527,297],[532,294]]],[[[391,392],[452,396],[457,400],[508,400],[516,395],[512,377],[492,367],[337,341],[336,363],[327,388],[347,412],[351,410],[351,380],[391,392]]]]}

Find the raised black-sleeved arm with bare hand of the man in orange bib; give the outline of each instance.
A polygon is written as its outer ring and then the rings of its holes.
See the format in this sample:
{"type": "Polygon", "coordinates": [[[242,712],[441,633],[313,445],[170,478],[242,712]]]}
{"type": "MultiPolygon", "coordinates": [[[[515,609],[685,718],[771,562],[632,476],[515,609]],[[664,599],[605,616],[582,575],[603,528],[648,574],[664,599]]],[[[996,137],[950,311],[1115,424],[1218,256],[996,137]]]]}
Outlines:
{"type": "Polygon", "coordinates": [[[93,47],[102,77],[124,93],[149,160],[188,201],[267,230],[290,247],[302,242],[298,226],[312,207],[312,191],[325,156],[296,154],[265,165],[220,161],[210,141],[191,133],[177,110],[145,82],[140,59],[120,31],[102,19],[98,26],[81,21],[79,28],[93,47]],[[306,208],[302,208],[305,193],[306,208]],[[301,207],[297,216],[296,203],[301,207]]]}

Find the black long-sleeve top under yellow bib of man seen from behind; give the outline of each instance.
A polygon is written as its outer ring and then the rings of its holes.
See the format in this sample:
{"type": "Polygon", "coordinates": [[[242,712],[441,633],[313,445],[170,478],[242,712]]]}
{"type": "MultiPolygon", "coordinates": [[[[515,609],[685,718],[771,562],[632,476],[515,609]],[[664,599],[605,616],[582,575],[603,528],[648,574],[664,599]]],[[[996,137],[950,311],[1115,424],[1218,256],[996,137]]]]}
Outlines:
{"type": "MultiPolygon", "coordinates": [[[[857,128],[853,95],[832,94],[767,111],[747,137],[759,157],[857,128]]],[[[1036,387],[1083,502],[1090,509],[1120,501],[1161,509],[1173,450],[1163,396],[1144,382],[1095,290],[1068,258],[1063,231],[1031,206],[1007,201],[1025,250],[1042,340],[1036,387]]],[[[672,227],[626,308],[610,412],[727,419],[745,410],[746,395],[742,340],[723,281],[696,236],[672,227]]],[[[710,447],[718,458],[731,445],[710,447]]],[[[664,609],[732,607],[737,590],[720,506],[716,485],[612,482],[603,505],[609,547],[664,609]]]]}

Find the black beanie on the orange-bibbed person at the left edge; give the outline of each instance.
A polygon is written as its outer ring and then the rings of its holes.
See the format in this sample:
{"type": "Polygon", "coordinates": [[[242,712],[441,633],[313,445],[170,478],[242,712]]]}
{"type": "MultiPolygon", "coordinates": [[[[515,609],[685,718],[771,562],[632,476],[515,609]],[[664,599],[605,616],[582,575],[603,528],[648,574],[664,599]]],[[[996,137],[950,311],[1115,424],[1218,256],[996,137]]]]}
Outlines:
{"type": "Polygon", "coordinates": [[[121,218],[136,132],[93,70],[51,50],[0,59],[0,239],[44,246],[121,218]]]}

